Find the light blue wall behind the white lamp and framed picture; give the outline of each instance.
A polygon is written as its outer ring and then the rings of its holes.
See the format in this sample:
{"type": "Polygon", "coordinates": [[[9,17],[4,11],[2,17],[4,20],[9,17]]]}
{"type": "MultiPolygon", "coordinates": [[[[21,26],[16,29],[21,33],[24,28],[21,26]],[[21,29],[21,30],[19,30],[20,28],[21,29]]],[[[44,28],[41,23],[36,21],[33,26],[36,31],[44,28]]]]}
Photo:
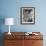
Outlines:
{"type": "MultiPolygon", "coordinates": [[[[0,19],[4,21],[6,17],[15,18],[14,26],[11,26],[11,32],[46,32],[46,0],[0,0],[0,19]],[[35,7],[35,24],[20,24],[20,8],[35,7]]],[[[1,21],[0,20],[0,21],[1,21]]],[[[0,32],[8,32],[8,26],[0,22],[0,32]]],[[[0,35],[0,37],[2,37],[0,35]]],[[[1,38],[2,39],[2,38],[1,38]]],[[[1,44],[2,45],[2,44],[1,44]]],[[[46,45],[46,44],[45,44],[46,45]]]]}

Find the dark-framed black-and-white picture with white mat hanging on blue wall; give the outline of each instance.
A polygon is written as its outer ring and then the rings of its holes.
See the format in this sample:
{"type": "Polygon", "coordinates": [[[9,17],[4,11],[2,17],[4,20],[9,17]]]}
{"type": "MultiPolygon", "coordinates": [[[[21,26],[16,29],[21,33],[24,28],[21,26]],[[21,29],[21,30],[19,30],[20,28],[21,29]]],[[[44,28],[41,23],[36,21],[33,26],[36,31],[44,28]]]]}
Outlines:
{"type": "Polygon", "coordinates": [[[21,7],[21,24],[35,24],[35,7],[21,7]]]}

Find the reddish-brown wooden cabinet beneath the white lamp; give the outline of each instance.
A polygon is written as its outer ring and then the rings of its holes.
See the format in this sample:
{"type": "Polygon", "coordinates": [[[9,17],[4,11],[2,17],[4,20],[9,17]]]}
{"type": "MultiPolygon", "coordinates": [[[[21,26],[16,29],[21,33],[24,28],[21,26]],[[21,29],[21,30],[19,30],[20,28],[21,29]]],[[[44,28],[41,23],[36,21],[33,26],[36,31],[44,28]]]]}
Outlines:
{"type": "MultiPolygon", "coordinates": [[[[8,35],[4,33],[4,46],[43,46],[43,35],[25,35],[26,32],[11,32],[8,35]]],[[[33,32],[34,33],[34,32],[33,32]]]]}

